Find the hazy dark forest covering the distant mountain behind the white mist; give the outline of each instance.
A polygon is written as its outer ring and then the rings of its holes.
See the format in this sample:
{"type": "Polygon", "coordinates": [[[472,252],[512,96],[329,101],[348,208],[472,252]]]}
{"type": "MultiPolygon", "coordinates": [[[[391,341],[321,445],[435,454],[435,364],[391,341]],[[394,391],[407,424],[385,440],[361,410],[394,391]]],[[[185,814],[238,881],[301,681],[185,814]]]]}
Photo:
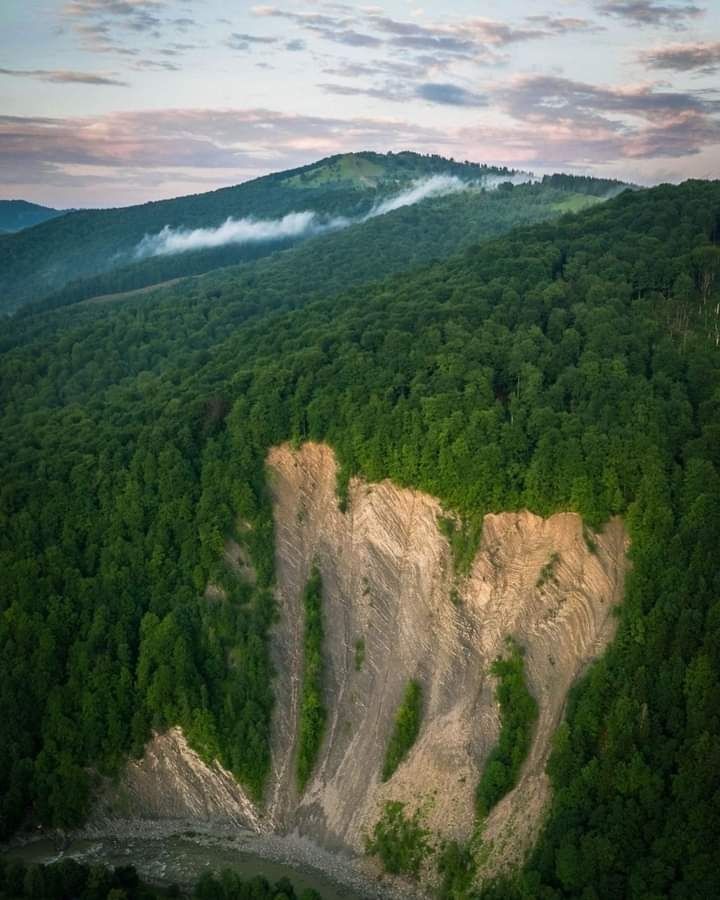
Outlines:
{"type": "MultiPolygon", "coordinates": [[[[269,242],[249,250],[225,247],[190,253],[189,259],[179,254],[133,265],[143,238],[166,226],[217,227],[230,216],[277,219],[301,210],[320,216],[358,216],[413,180],[440,173],[465,180],[511,174],[508,169],[417,153],[346,154],[205,194],[120,209],[71,212],[31,232],[0,237],[0,312],[37,301],[69,281],[115,269],[123,270],[120,278],[125,288],[140,287],[274,249],[274,242],[269,242]]],[[[101,283],[106,284],[107,279],[101,283]]]]}

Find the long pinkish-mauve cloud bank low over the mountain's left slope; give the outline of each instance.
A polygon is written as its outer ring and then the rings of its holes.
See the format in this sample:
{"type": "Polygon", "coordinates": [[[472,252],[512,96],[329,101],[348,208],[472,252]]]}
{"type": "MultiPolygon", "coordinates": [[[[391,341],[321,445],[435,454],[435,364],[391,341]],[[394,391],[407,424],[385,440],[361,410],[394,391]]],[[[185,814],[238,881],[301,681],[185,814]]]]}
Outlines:
{"type": "Polygon", "coordinates": [[[392,119],[267,109],[160,109],[89,117],[0,116],[0,180],[49,181],[69,166],[102,171],[223,170],[225,183],[349,150],[422,148],[433,128],[392,119]],[[14,177],[14,176],[13,176],[14,177]]]}

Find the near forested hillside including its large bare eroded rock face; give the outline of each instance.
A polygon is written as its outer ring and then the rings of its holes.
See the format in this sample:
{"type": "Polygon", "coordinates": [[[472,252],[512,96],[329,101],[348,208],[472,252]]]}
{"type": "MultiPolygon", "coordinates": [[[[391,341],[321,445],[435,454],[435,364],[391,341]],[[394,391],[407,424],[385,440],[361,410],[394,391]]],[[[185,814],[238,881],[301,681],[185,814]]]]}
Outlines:
{"type": "MultiPolygon", "coordinates": [[[[305,189],[316,188],[292,188],[305,189]]],[[[470,202],[432,204],[461,198],[470,202]]],[[[400,829],[426,842],[424,877],[465,884],[455,896],[720,892],[720,821],[708,802],[720,760],[720,183],[626,192],[371,281],[368,260],[386,265],[377,253],[385,223],[422,209],[122,301],[8,321],[4,834],[27,816],[78,823],[94,779],[123,771],[129,753],[174,726],[257,808],[280,797],[288,809],[299,796],[282,738],[293,721],[297,753],[310,760],[313,833],[357,852],[346,813],[333,819],[340,807],[312,772],[337,771],[374,698],[385,724],[376,738],[363,729],[363,765],[373,761],[363,778],[389,806],[363,814],[387,826],[368,845],[384,864],[394,864],[388,844],[400,829]],[[318,445],[332,448],[337,471],[313,468],[313,453],[332,458],[318,445]],[[567,524],[568,513],[582,523],[567,524]],[[630,571],[614,619],[621,527],[630,571]],[[532,571],[512,544],[523,529],[536,535],[532,571]],[[414,562],[404,568],[406,553],[414,562]],[[373,554],[387,565],[365,566],[373,554]],[[442,575],[431,557],[443,560],[442,575]],[[507,573],[529,626],[498,603],[494,585],[507,573]],[[432,578],[447,584],[426,591],[432,578]],[[410,614],[412,579],[425,605],[410,614]],[[345,600],[340,641],[327,623],[345,600]],[[445,621],[455,625],[441,631],[445,621]],[[407,638],[398,682],[382,647],[388,622],[407,638]],[[615,628],[556,728],[566,689],[615,628]],[[420,652],[427,632],[442,634],[446,656],[435,643],[420,652]],[[468,641],[481,675],[455,654],[468,641]],[[300,690],[289,646],[304,673],[319,672],[294,705],[280,689],[300,690]],[[481,742],[474,708],[442,693],[431,669],[448,660],[484,696],[497,743],[481,742]],[[376,667],[394,685],[384,700],[351,674],[369,678],[376,667]],[[343,678],[355,678],[352,704],[338,699],[343,678]],[[381,787],[381,745],[402,718],[408,679],[425,698],[421,719],[381,787]],[[525,698],[512,727],[493,702],[498,684],[525,698]],[[551,703],[548,684],[558,690],[551,703]],[[549,744],[538,741],[552,732],[544,827],[524,870],[493,881],[482,840],[493,840],[528,767],[543,777],[549,744]],[[465,782],[453,785],[458,812],[441,832],[415,788],[423,760],[440,766],[444,751],[464,746],[472,753],[465,782]],[[276,795],[278,759],[289,788],[276,795]],[[476,877],[484,881],[471,888],[476,877]]],[[[411,252],[405,260],[421,262],[411,252]]]]}

